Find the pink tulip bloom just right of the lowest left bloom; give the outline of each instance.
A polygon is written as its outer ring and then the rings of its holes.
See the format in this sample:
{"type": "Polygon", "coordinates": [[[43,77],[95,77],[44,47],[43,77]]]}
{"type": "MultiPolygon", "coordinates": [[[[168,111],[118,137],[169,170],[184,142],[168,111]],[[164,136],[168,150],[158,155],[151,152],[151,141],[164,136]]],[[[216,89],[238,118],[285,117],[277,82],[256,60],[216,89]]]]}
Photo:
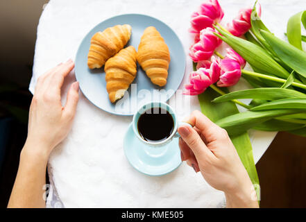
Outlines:
{"type": "Polygon", "coordinates": [[[220,79],[216,85],[219,87],[229,87],[238,83],[241,77],[241,67],[237,60],[224,58],[220,62],[220,79]]]}

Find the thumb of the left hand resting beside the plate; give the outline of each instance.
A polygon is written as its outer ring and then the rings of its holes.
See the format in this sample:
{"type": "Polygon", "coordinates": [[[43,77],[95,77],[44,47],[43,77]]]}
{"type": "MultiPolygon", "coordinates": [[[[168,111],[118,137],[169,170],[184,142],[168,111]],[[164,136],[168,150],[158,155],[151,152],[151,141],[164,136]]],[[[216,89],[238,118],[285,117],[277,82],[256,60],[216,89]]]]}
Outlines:
{"type": "Polygon", "coordinates": [[[67,102],[64,108],[64,113],[69,117],[74,117],[76,106],[78,105],[78,82],[71,84],[67,93],[67,102]]]}

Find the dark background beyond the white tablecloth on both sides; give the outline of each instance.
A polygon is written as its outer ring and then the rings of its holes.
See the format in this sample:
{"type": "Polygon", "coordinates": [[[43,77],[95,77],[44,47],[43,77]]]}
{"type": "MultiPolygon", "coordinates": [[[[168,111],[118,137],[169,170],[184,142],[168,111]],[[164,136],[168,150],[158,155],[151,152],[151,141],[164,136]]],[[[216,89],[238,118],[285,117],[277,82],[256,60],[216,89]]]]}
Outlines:
{"type": "MultiPolygon", "coordinates": [[[[8,203],[26,139],[36,28],[46,2],[0,1],[0,207],[8,203]]],[[[256,166],[261,207],[306,207],[305,146],[303,137],[275,137],[256,166]]]]}

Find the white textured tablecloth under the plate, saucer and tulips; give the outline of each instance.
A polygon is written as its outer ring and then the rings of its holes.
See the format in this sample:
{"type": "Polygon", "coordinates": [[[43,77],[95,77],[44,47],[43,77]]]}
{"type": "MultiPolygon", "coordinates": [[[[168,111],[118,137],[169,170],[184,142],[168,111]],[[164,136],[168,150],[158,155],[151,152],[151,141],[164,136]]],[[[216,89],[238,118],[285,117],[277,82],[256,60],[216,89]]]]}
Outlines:
{"type": "MultiPolygon", "coordinates": [[[[168,24],[177,33],[187,56],[192,40],[187,33],[189,17],[199,0],[51,0],[40,18],[33,78],[68,58],[75,58],[78,45],[92,27],[114,15],[139,13],[151,15],[168,24]]],[[[239,8],[254,1],[220,1],[224,21],[237,15],[239,8]]],[[[262,18],[278,36],[283,36],[290,15],[306,8],[305,1],[266,0],[262,18]]],[[[224,22],[223,22],[224,23],[224,22]]],[[[186,74],[192,70],[187,56],[186,74]]],[[[67,87],[75,80],[69,75],[62,90],[63,103],[67,87]]],[[[185,75],[184,83],[186,83],[185,75]]],[[[182,85],[180,86],[182,88],[182,85]]],[[[237,86],[239,87],[239,86],[237,86]]],[[[241,86],[240,86],[241,87],[241,86]]],[[[180,119],[199,109],[196,96],[186,104],[174,103],[180,119]],[[192,110],[189,109],[189,103],[192,110]]],[[[171,99],[173,102],[173,99],[171,99]]],[[[217,111],[216,111],[217,112],[217,111]]],[[[145,176],[128,164],[122,148],[124,133],[131,117],[119,117],[96,108],[80,94],[74,125],[67,139],[54,149],[49,159],[51,184],[62,201],[49,202],[49,207],[221,207],[224,196],[203,180],[201,173],[183,163],[167,176],[145,176]],[[56,203],[54,205],[54,203],[56,203]]],[[[260,159],[275,133],[250,132],[255,161],[260,159]]],[[[57,200],[57,199],[55,199],[57,200]]]]}

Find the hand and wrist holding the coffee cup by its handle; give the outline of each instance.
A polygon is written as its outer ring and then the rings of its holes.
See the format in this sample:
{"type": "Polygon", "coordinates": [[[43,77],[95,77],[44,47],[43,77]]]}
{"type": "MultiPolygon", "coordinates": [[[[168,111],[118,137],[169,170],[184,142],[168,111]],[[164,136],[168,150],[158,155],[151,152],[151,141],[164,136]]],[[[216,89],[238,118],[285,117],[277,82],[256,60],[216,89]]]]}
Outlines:
{"type": "Polygon", "coordinates": [[[226,130],[199,111],[192,112],[188,123],[194,127],[178,128],[182,160],[225,192],[227,207],[258,207],[253,184],[226,130]]]}

